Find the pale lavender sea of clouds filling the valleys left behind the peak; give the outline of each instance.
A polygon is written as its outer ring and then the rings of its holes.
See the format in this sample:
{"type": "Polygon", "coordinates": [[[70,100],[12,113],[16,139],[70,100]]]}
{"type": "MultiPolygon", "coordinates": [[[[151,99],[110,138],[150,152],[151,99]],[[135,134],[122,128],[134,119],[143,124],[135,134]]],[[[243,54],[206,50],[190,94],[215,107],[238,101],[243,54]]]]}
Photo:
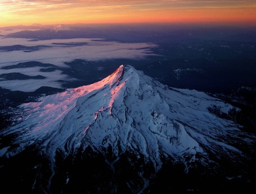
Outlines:
{"type": "MultiPolygon", "coordinates": [[[[3,66],[16,65],[19,62],[39,61],[49,63],[61,68],[69,68],[64,62],[75,59],[86,61],[103,61],[113,59],[141,60],[148,56],[155,56],[152,48],[158,47],[152,43],[119,43],[117,41],[106,41],[104,39],[53,39],[33,41],[21,38],[0,37],[0,47],[23,45],[26,47],[40,47],[39,50],[0,50],[0,68],[3,66]],[[30,52],[28,52],[30,51],[30,52]]],[[[61,74],[61,71],[52,72],[40,71],[42,67],[0,69],[0,74],[22,73],[35,76],[43,75],[46,79],[27,79],[5,81],[1,79],[0,87],[11,91],[35,91],[41,86],[61,88],[57,80],[72,81],[74,78],[61,74]]]]}

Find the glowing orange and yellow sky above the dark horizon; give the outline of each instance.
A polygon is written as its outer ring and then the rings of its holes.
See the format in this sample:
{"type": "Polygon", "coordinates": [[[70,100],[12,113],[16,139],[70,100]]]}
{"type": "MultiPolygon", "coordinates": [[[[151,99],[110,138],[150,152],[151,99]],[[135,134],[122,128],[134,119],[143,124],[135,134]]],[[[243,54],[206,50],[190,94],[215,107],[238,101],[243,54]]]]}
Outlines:
{"type": "Polygon", "coordinates": [[[33,23],[256,24],[256,1],[0,0],[0,27],[33,23]]]}

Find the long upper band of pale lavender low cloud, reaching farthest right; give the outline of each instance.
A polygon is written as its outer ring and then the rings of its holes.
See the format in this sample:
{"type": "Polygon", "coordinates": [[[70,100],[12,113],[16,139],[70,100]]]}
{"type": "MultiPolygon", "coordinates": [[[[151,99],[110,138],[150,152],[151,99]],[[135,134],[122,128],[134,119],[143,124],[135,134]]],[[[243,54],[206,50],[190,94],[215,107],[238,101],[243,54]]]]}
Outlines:
{"type": "Polygon", "coordinates": [[[101,39],[30,41],[28,39],[2,38],[0,41],[2,47],[12,45],[23,45],[26,47],[38,45],[48,46],[47,48],[42,48],[34,52],[24,52],[22,50],[0,52],[0,68],[1,66],[15,65],[18,62],[26,61],[39,61],[63,66],[64,62],[69,62],[74,59],[86,61],[117,58],[142,59],[147,56],[155,55],[152,53],[151,48],[157,47],[157,45],[150,43],[118,43],[101,39]],[[79,43],[84,43],[84,45],[78,45],[79,43]]]}

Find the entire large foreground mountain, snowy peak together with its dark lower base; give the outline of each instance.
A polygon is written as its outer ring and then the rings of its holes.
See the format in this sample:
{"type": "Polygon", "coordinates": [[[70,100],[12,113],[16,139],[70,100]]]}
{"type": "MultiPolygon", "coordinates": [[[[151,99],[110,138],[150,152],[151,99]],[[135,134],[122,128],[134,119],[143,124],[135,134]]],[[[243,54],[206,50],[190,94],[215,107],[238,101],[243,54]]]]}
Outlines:
{"type": "MultiPolygon", "coordinates": [[[[204,92],[167,87],[130,65],[19,111],[1,132],[0,165],[10,169],[7,161],[33,153],[36,172],[27,191],[150,192],[166,165],[178,164],[185,174],[242,179],[256,140],[234,121],[238,108],[204,92]]],[[[198,183],[184,184],[186,191],[203,191],[198,183]]]]}

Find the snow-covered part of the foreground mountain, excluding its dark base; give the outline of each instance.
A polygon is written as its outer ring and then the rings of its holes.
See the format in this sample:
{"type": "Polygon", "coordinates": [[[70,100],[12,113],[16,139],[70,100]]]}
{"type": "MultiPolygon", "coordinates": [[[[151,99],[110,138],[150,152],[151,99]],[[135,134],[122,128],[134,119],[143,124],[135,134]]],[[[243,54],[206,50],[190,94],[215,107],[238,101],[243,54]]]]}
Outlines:
{"type": "Polygon", "coordinates": [[[18,124],[1,132],[15,134],[15,146],[0,147],[0,155],[10,158],[34,145],[54,166],[57,150],[68,157],[88,146],[97,153],[111,147],[117,159],[126,151],[143,154],[156,171],[163,156],[184,162],[187,171],[194,162],[214,162],[209,154],[239,161],[239,145],[253,144],[255,137],[209,107],[224,115],[234,110],[203,92],[167,87],[121,65],[100,82],[20,106],[18,124]]]}

